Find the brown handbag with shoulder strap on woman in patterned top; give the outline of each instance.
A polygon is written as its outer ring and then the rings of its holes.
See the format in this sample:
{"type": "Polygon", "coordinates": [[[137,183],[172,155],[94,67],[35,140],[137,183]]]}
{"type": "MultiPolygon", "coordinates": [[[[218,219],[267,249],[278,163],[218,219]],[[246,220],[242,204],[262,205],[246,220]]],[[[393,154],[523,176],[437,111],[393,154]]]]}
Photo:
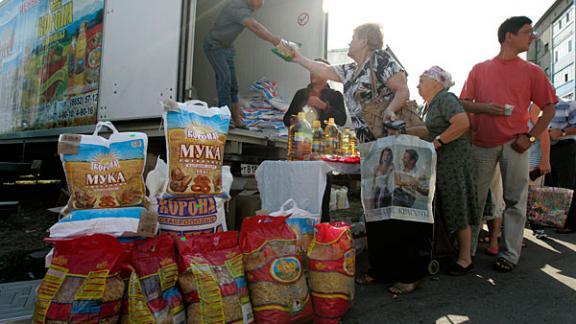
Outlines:
{"type": "MultiPolygon", "coordinates": [[[[374,55],[370,57],[370,84],[372,87],[372,96],[369,100],[361,102],[362,118],[366,121],[370,132],[376,138],[386,136],[384,127],[384,110],[390,104],[390,101],[384,100],[376,92],[376,72],[374,72],[374,55]]],[[[406,134],[418,137],[424,137],[428,134],[428,129],[422,118],[417,113],[418,104],[414,100],[408,100],[402,105],[402,108],[396,112],[399,120],[406,122],[406,134]]]]}

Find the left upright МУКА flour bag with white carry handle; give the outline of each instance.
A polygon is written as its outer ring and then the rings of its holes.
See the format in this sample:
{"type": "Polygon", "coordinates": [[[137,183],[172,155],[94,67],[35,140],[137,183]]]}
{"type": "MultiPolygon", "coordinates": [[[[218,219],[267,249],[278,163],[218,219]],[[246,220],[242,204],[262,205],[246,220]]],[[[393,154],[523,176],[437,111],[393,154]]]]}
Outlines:
{"type": "Polygon", "coordinates": [[[144,166],[148,137],[120,133],[111,122],[99,122],[92,135],[62,134],[58,153],[66,173],[71,209],[138,206],[144,203],[144,166]],[[102,127],[109,139],[98,136],[102,127]]]}

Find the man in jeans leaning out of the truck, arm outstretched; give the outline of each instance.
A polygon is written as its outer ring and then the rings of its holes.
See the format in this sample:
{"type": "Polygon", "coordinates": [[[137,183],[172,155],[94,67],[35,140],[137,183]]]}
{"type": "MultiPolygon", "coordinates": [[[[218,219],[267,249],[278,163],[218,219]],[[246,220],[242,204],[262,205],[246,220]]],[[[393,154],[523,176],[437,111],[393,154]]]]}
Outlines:
{"type": "Polygon", "coordinates": [[[231,127],[244,127],[238,103],[234,41],[244,28],[248,28],[256,36],[274,46],[280,42],[280,37],[272,34],[253,18],[254,11],[260,9],[262,5],[264,0],[229,0],[204,39],[204,53],[216,76],[218,105],[231,108],[231,127]]]}

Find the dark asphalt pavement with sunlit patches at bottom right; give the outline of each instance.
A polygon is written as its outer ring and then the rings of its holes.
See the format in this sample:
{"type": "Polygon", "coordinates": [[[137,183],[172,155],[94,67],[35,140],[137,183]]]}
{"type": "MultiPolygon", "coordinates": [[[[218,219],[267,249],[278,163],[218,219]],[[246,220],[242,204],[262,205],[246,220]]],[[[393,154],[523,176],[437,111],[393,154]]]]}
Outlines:
{"type": "Polygon", "coordinates": [[[397,299],[386,285],[357,286],[344,323],[576,323],[576,234],[547,233],[539,240],[525,231],[527,247],[511,273],[492,270],[495,257],[479,253],[472,274],[428,277],[397,299]]]}

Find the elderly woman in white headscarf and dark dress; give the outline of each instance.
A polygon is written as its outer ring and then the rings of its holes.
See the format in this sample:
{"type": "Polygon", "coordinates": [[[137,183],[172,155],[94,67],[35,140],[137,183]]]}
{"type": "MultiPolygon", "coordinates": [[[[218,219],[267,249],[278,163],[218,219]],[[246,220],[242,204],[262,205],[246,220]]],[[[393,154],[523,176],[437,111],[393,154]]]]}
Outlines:
{"type": "Polygon", "coordinates": [[[480,222],[470,142],[464,136],[470,122],[464,107],[448,89],[454,84],[450,73],[438,66],[420,76],[418,92],[424,108],[426,140],[437,152],[436,206],[448,231],[456,234],[458,258],[449,274],[464,275],[473,269],[471,225],[480,222]]]}

